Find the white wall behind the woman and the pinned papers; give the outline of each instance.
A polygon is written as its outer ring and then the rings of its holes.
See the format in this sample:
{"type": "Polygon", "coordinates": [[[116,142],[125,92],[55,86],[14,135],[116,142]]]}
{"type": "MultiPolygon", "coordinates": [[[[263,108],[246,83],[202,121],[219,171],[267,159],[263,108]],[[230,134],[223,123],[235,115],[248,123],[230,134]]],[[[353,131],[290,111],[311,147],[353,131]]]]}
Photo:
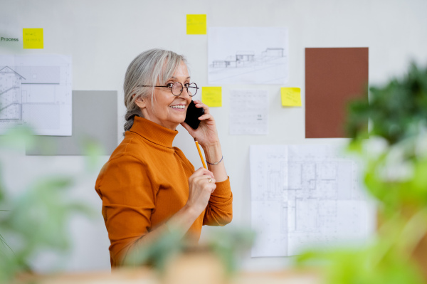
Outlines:
{"type": "MultiPolygon", "coordinates": [[[[400,75],[411,60],[427,63],[427,1],[425,0],[1,0],[0,35],[22,37],[22,28],[43,28],[44,49],[14,49],[0,44],[1,54],[59,53],[73,56],[73,90],[118,90],[119,137],[125,107],[122,81],[127,65],[149,48],[183,53],[198,85],[207,83],[207,36],[186,35],[186,14],[206,14],[208,26],[285,26],[289,31],[290,79],[283,86],[300,87],[305,102],[306,47],[369,47],[370,83],[384,83],[400,75]]],[[[280,85],[225,85],[223,107],[212,108],[223,146],[224,162],[234,194],[234,219],[229,226],[250,222],[249,156],[251,144],[340,143],[343,139],[305,140],[304,107],[280,106],[280,85]],[[270,92],[270,135],[228,135],[228,94],[232,88],[267,88],[270,92]]],[[[102,103],[102,102],[100,102],[102,103]]],[[[200,167],[194,142],[179,128],[176,146],[200,167]]],[[[18,190],[51,172],[85,172],[83,157],[26,157],[1,154],[7,164],[4,179],[18,190]]],[[[101,157],[98,170],[107,157],[101,157]]],[[[5,169],[5,167],[3,167],[5,169]]],[[[95,172],[86,172],[74,193],[100,212],[101,201],[93,186],[95,172]]],[[[67,270],[109,268],[108,240],[102,217],[74,219],[70,224],[73,251],[67,270]]],[[[204,228],[202,237],[211,230],[204,228]]],[[[46,270],[52,261],[37,261],[46,270]]],[[[273,269],[289,258],[249,258],[246,269],[273,269]]]]}

